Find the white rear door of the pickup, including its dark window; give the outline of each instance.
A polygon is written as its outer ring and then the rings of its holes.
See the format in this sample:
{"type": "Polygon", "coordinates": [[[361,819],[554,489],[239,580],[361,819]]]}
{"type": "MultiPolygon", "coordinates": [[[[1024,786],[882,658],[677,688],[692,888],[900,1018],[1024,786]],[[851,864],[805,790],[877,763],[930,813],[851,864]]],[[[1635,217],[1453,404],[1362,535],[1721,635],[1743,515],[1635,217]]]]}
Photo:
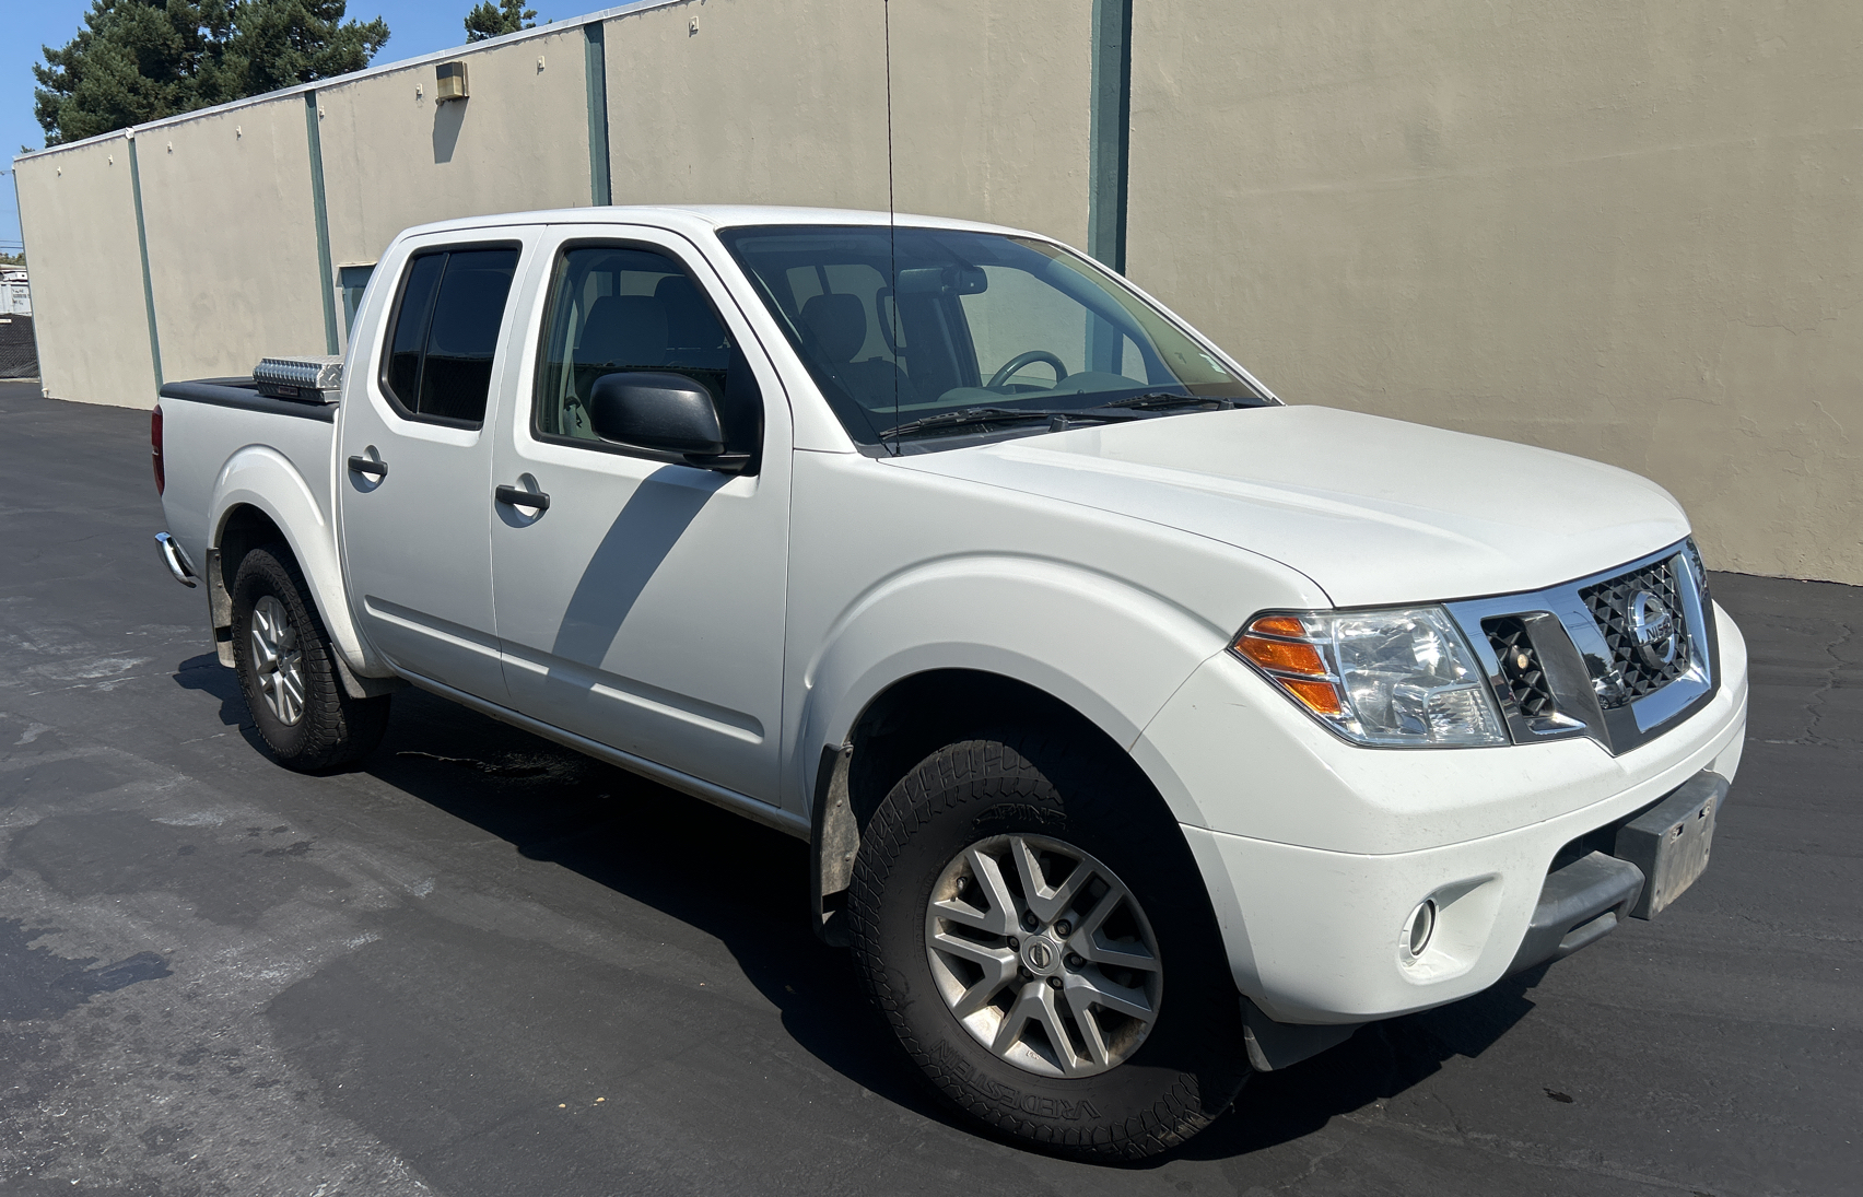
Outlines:
{"type": "Polygon", "coordinates": [[[492,605],[492,436],[503,330],[525,240],[434,235],[410,244],[373,328],[358,330],[341,475],[356,618],[408,674],[507,702],[492,605]]]}

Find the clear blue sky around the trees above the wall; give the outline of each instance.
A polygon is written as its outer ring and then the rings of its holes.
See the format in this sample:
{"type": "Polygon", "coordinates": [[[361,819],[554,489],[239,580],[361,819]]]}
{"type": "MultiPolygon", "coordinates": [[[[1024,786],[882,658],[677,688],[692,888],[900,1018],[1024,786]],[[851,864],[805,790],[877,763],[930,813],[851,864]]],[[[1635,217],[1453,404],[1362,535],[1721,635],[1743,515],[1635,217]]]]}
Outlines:
{"type": "MultiPolygon", "coordinates": [[[[360,20],[384,17],[388,45],[374,61],[415,58],[466,41],[466,13],[477,0],[350,0],[348,15],[360,20]]],[[[531,0],[537,22],[596,13],[619,0],[551,4],[531,0]]],[[[13,194],[13,155],[20,145],[41,149],[45,130],[32,115],[34,63],[39,47],[63,47],[84,26],[89,0],[0,0],[0,249],[19,249],[19,199],[13,194]]]]}

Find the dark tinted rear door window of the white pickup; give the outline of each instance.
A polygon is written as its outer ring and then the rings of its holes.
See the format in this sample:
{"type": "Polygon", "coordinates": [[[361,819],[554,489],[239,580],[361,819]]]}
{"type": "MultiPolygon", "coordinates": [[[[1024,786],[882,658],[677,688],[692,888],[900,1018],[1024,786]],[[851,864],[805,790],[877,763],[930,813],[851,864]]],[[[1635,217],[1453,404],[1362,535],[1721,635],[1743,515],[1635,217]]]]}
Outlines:
{"type": "Polygon", "coordinates": [[[477,428],[516,248],[432,249],[408,262],[382,385],[402,415],[477,428]]]}

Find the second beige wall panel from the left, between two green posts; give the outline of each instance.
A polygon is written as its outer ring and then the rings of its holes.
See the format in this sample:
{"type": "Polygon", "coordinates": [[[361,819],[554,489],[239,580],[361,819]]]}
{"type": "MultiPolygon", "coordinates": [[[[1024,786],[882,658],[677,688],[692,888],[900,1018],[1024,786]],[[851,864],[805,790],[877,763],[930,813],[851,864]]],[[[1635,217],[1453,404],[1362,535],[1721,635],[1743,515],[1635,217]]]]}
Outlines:
{"type": "Polygon", "coordinates": [[[162,374],[326,352],[304,97],[149,128],[138,145],[162,374]]]}

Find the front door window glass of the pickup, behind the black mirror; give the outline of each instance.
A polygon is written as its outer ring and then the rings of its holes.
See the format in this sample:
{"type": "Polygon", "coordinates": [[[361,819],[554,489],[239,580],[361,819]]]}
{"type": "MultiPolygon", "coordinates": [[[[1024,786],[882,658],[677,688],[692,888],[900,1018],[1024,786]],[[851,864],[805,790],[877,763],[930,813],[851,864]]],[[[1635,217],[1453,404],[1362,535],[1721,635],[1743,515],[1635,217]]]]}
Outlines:
{"type": "Polygon", "coordinates": [[[755,452],[762,404],[749,365],[680,262],[630,246],[570,246],[557,255],[544,313],[531,426],[538,437],[600,447],[589,423],[598,378],[684,374],[712,391],[732,452],[755,452]]]}

